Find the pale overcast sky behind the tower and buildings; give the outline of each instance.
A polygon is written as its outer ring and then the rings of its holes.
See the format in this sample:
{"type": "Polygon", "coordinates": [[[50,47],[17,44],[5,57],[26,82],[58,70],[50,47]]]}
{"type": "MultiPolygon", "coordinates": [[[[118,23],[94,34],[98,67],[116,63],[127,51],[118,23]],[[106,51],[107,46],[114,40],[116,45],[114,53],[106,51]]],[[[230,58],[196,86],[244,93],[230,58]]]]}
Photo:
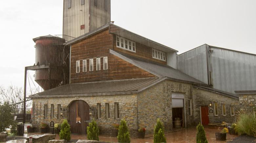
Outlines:
{"type": "MultiPolygon", "coordinates": [[[[178,54],[205,43],[256,54],[255,6],[256,0],[111,0],[111,21],[178,54]]],[[[25,67],[35,62],[32,39],[61,35],[62,18],[63,0],[0,1],[0,85],[24,86],[25,67]]]]}

